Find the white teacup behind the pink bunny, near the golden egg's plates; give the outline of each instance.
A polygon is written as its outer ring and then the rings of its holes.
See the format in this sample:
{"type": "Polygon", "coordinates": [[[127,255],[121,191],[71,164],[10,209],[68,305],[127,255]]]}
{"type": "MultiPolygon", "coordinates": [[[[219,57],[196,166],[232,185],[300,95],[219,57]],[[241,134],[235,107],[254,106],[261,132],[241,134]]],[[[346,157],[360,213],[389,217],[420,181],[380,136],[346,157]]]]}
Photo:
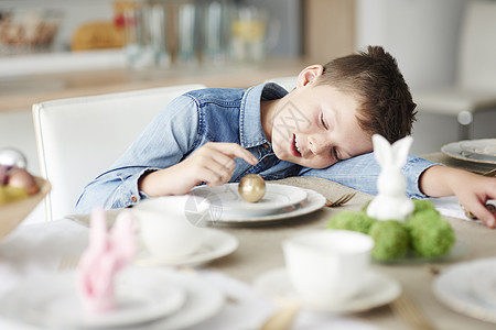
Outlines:
{"type": "Polygon", "coordinates": [[[132,208],[140,238],[153,255],[180,258],[198,250],[205,229],[195,227],[208,212],[209,202],[202,197],[165,196],[142,200],[132,208]]]}

